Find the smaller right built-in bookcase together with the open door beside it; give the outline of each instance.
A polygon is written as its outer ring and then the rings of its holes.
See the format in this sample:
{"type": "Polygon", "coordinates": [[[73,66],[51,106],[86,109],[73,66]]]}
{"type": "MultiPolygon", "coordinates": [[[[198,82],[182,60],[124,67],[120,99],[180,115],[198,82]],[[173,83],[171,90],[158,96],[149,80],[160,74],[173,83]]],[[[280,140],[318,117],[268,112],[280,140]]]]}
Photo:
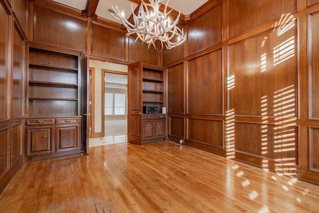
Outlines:
{"type": "Polygon", "coordinates": [[[129,65],[128,70],[128,141],[142,145],[166,138],[165,68],[143,64],[129,65]],[[157,107],[157,112],[146,114],[145,106],[157,107]]]}

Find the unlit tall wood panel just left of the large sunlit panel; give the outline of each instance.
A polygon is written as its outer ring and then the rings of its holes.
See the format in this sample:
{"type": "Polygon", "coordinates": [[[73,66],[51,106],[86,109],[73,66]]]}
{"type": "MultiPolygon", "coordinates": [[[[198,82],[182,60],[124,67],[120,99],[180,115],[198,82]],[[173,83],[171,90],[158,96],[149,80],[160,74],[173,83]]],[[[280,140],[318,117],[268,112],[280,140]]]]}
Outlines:
{"type": "Polygon", "coordinates": [[[188,61],[188,113],[222,115],[222,49],[188,61]]]}

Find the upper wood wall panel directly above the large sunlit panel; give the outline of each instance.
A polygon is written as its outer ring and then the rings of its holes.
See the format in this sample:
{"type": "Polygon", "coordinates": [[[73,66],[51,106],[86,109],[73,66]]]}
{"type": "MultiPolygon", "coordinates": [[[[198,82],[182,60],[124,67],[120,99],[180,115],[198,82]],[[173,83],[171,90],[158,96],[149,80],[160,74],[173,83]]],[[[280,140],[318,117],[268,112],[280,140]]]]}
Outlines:
{"type": "Polygon", "coordinates": [[[297,10],[297,0],[227,0],[228,37],[234,37],[297,10]]]}

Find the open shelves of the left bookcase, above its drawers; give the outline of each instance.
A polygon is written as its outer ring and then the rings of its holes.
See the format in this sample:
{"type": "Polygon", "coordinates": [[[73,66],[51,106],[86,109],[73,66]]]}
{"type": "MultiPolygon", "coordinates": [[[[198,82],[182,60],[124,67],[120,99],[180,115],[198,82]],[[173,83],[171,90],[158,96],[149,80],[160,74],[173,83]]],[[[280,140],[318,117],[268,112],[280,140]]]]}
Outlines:
{"type": "Polygon", "coordinates": [[[79,115],[80,53],[29,44],[28,117],[79,115]]]}

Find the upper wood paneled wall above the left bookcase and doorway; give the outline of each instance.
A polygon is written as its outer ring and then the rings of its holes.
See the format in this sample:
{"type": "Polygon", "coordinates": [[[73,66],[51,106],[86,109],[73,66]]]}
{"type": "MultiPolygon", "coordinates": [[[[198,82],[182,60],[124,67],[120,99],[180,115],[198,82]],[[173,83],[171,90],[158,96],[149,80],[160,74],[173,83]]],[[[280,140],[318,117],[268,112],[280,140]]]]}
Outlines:
{"type": "Polygon", "coordinates": [[[29,2],[28,40],[79,50],[88,59],[129,64],[139,60],[161,65],[161,51],[126,37],[121,24],[81,16],[81,11],[46,0],[29,2]]]}

